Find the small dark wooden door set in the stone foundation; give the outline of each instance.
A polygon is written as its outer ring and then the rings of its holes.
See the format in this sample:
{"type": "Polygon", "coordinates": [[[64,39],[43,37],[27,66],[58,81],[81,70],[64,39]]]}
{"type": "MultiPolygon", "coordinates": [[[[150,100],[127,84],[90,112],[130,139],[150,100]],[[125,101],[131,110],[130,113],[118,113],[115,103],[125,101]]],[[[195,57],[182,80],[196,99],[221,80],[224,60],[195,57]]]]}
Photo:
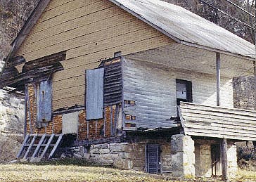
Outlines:
{"type": "Polygon", "coordinates": [[[147,172],[151,174],[160,173],[160,145],[146,145],[147,172]]]}

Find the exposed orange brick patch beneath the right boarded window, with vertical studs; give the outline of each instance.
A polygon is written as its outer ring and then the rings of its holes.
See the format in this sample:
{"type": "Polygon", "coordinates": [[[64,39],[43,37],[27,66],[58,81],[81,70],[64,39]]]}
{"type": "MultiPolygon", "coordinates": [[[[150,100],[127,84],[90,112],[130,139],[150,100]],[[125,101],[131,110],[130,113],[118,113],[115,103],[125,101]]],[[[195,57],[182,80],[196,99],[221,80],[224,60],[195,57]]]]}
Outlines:
{"type": "MultiPolygon", "coordinates": [[[[115,124],[115,105],[108,106],[105,108],[105,137],[108,138],[111,136],[111,107],[112,111],[112,126],[115,124]]],[[[95,139],[103,138],[101,130],[104,128],[104,119],[93,119],[87,121],[86,112],[83,111],[79,114],[79,126],[78,126],[78,139],[95,139]],[[89,134],[87,135],[87,122],[89,122],[89,134]],[[87,137],[88,136],[88,137],[87,137]]]]}

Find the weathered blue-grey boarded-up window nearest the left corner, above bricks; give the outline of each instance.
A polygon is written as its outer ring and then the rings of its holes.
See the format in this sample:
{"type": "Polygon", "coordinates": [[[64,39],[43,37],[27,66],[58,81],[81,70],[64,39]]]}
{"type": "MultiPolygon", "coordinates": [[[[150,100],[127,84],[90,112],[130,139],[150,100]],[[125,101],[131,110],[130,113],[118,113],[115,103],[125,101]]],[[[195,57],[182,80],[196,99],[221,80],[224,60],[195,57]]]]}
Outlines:
{"type": "Polygon", "coordinates": [[[51,80],[36,84],[38,127],[46,126],[51,121],[51,80]]]}

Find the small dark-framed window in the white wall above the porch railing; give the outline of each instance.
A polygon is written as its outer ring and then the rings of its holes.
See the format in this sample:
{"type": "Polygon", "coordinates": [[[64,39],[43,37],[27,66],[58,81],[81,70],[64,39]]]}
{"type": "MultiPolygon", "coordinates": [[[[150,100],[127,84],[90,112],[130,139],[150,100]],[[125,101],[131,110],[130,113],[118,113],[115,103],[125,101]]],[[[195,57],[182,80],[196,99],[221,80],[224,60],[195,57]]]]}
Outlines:
{"type": "Polygon", "coordinates": [[[192,103],[192,82],[176,79],[176,98],[177,105],[181,101],[192,103]]]}

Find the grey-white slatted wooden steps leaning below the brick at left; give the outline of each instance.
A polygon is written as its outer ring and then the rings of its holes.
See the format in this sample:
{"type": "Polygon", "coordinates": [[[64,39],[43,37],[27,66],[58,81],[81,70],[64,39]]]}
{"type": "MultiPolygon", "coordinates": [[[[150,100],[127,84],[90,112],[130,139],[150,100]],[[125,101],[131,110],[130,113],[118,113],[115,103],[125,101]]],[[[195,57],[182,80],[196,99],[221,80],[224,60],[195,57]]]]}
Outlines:
{"type": "Polygon", "coordinates": [[[27,134],[17,158],[30,160],[30,162],[40,161],[41,159],[49,160],[53,157],[62,139],[63,134],[27,134]]]}

